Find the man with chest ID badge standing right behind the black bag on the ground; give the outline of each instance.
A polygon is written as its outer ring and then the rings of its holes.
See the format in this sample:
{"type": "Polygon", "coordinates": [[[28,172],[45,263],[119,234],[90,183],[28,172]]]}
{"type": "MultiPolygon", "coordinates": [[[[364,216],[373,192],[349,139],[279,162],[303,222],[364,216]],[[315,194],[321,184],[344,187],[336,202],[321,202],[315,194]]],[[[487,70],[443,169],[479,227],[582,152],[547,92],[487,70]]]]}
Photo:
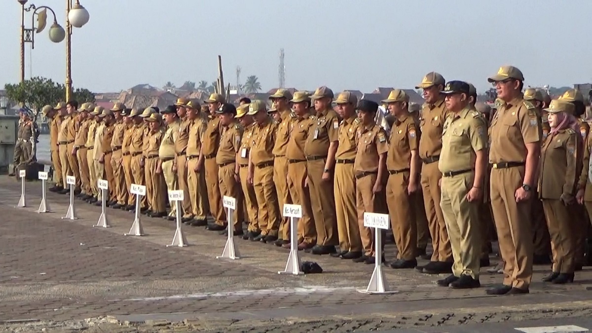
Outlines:
{"type": "Polygon", "coordinates": [[[320,87],[310,97],[316,110],[316,123],[311,127],[306,143],[307,184],[310,190],[314,222],[317,229],[317,245],[313,254],[331,254],[339,243],[337,219],[335,218],[335,198],[333,191],[333,171],[335,152],[339,146],[339,118],[331,106],[333,91],[320,87]]]}

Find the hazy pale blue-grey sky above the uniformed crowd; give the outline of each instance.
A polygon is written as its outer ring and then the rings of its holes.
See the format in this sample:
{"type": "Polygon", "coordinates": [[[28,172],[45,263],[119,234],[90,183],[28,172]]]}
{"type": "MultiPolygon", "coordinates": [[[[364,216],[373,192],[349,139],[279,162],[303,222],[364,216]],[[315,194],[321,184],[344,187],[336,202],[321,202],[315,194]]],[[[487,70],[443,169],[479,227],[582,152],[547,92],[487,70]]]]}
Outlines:
{"type": "MultiPolygon", "coordinates": [[[[54,9],[67,0],[29,1],[54,9]]],[[[224,81],[256,75],[263,91],[285,86],[333,91],[414,88],[430,71],[471,82],[479,92],[501,65],[533,87],[592,82],[590,0],[80,0],[90,20],[72,34],[75,88],[118,92],[136,84],[224,81]]],[[[0,87],[20,80],[21,7],[0,1],[0,87]]],[[[25,27],[30,27],[30,13],[25,27]]],[[[64,82],[65,41],[48,27],[25,45],[25,77],[64,82]]]]}

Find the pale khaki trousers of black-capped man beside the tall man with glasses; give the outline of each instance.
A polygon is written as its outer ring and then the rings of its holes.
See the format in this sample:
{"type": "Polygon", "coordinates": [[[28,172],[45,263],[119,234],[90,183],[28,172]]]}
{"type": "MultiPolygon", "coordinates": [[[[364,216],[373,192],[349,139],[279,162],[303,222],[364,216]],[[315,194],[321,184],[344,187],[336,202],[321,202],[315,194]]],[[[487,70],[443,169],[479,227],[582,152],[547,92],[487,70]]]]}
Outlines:
{"type": "Polygon", "coordinates": [[[481,256],[480,201],[469,202],[466,194],[473,187],[475,174],[466,172],[442,177],[440,207],[446,221],[454,264],[452,274],[479,277],[481,256]]]}

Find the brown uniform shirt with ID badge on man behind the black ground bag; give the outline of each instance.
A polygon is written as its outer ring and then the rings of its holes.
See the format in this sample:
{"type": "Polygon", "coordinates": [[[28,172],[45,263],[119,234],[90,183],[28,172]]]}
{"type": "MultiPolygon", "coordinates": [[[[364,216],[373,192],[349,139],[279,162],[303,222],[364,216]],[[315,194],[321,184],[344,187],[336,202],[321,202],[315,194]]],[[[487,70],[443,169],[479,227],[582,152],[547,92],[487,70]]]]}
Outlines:
{"type": "Polygon", "coordinates": [[[325,110],[316,118],[304,145],[306,156],[327,156],[329,144],[339,140],[339,118],[333,109],[325,110]]]}

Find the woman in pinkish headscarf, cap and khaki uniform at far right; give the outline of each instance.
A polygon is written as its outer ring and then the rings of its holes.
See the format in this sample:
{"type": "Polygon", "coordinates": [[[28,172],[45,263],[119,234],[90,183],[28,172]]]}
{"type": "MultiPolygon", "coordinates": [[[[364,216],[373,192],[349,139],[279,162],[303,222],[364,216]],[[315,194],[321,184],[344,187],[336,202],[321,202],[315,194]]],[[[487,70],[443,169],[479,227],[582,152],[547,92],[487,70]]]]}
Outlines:
{"type": "Polygon", "coordinates": [[[572,104],[554,100],[546,111],[551,130],[540,152],[538,187],[551,235],[553,266],[543,281],[562,284],[574,280],[575,234],[569,206],[575,203],[581,143],[572,104]]]}

